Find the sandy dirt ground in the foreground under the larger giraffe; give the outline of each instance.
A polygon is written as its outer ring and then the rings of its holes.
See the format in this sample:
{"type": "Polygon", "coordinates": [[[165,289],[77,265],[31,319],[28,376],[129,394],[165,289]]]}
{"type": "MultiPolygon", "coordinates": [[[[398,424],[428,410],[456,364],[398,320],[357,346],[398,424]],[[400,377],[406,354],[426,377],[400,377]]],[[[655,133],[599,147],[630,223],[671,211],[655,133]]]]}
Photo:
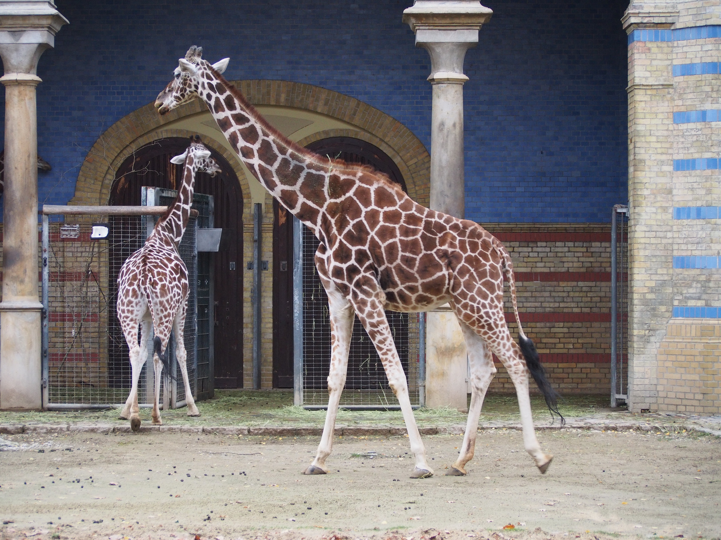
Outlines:
{"type": "Polygon", "coordinates": [[[721,537],[721,441],[699,433],[542,431],[425,436],[435,476],[411,480],[407,438],[26,433],[0,438],[0,539],[549,539],[721,537]],[[681,536],[683,535],[683,536],[681,536]]]}

